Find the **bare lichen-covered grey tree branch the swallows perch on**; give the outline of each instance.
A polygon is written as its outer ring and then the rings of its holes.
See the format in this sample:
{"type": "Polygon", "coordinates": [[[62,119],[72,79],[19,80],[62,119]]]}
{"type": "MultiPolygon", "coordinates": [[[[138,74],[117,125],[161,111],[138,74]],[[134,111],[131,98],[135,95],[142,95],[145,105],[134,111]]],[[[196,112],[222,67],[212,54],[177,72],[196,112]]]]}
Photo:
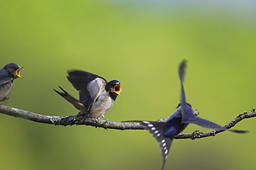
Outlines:
{"type": "MultiPolygon", "coordinates": [[[[102,127],[104,129],[118,129],[118,130],[126,130],[126,129],[134,129],[134,130],[143,130],[143,126],[139,123],[116,123],[116,122],[109,122],[105,120],[98,120],[97,118],[85,118],[84,116],[45,116],[42,114],[35,114],[31,111],[25,111],[21,109],[16,109],[13,107],[8,107],[5,105],[0,105],[0,113],[7,114],[9,116],[14,116],[16,118],[24,118],[26,120],[32,120],[37,123],[46,123],[51,125],[90,125],[93,127],[102,127]]],[[[252,118],[256,116],[255,109],[252,110],[251,113],[247,113],[246,111],[244,114],[239,114],[237,118],[232,120],[230,123],[225,125],[227,129],[234,127],[239,121],[245,118],[252,118]]],[[[163,118],[161,122],[165,122],[167,118],[163,118]]],[[[206,133],[202,133],[200,131],[194,131],[190,134],[179,134],[176,136],[176,139],[185,139],[185,138],[205,138],[208,136],[215,136],[219,134],[221,131],[213,130],[208,131],[206,133]]]]}

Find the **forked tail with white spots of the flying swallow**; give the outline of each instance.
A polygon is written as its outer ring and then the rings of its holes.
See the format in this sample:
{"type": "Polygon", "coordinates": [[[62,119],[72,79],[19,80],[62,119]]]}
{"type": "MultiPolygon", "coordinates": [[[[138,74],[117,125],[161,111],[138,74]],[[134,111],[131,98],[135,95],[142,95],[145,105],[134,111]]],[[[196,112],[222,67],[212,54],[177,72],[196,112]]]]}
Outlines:
{"type": "Polygon", "coordinates": [[[159,147],[161,147],[162,157],[163,157],[163,167],[165,166],[165,161],[167,160],[168,153],[170,151],[170,147],[172,145],[173,138],[165,138],[163,136],[163,131],[165,127],[165,123],[161,122],[153,122],[153,121],[125,121],[125,122],[137,122],[140,125],[143,125],[145,129],[149,131],[150,134],[156,138],[159,143],[159,147]]]}

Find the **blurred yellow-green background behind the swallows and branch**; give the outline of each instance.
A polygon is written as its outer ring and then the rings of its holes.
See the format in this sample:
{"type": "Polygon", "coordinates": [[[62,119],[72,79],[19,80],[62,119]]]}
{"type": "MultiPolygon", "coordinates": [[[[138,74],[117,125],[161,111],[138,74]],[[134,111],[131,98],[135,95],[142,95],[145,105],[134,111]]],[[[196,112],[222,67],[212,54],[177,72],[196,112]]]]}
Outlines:
{"type": "MultiPolygon", "coordinates": [[[[179,103],[179,63],[188,60],[187,100],[226,125],[256,107],[255,1],[0,1],[3,67],[24,66],[3,105],[77,114],[57,95],[78,96],[66,70],[117,79],[111,120],[158,120],[179,103]]],[[[0,114],[1,169],[161,169],[147,131],[53,126],[0,114]]],[[[214,138],[174,140],[165,169],[255,169],[256,120],[214,138]]],[[[208,131],[189,125],[184,133],[208,131]]]]}

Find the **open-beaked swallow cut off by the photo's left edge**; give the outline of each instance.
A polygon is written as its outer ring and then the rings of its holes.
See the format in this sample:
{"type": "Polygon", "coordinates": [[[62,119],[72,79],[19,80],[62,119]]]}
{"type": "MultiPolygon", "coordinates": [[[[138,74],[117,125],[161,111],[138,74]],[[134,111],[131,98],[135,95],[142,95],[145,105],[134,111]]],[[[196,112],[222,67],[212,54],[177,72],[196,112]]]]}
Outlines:
{"type": "Polygon", "coordinates": [[[12,88],[12,82],[14,79],[21,77],[22,68],[15,63],[8,63],[0,69],[0,102],[8,99],[7,95],[12,88]]]}

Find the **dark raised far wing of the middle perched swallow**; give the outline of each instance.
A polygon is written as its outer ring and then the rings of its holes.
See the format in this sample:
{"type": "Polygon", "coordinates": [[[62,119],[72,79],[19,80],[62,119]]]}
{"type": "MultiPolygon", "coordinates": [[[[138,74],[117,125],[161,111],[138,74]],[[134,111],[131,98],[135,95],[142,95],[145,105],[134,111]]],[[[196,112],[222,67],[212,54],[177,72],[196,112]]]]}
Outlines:
{"type": "MultiPolygon", "coordinates": [[[[87,89],[87,85],[95,80],[95,78],[102,78],[96,74],[91,74],[89,72],[84,72],[84,71],[73,71],[73,72],[68,72],[68,81],[71,82],[71,84],[73,85],[73,87],[75,87],[75,89],[77,89],[77,91],[79,92],[79,98],[80,101],[84,101],[86,99],[89,98],[90,94],[89,90],[91,90],[91,92],[95,92],[95,89],[87,89]]],[[[105,81],[105,83],[107,83],[107,81],[102,78],[102,80],[105,81]]],[[[94,94],[95,95],[95,94],[94,94]]]]}

